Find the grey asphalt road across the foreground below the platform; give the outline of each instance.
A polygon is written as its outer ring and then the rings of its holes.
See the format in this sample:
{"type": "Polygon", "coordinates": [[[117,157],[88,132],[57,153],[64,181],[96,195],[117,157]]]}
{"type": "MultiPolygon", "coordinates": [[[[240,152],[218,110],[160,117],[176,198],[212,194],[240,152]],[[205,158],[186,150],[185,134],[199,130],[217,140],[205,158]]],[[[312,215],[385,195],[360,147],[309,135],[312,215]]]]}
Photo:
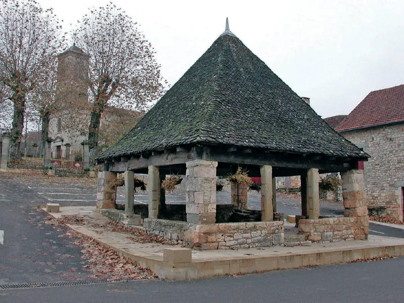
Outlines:
{"type": "Polygon", "coordinates": [[[237,277],[0,290],[8,303],[402,302],[404,258],[237,277]]]}

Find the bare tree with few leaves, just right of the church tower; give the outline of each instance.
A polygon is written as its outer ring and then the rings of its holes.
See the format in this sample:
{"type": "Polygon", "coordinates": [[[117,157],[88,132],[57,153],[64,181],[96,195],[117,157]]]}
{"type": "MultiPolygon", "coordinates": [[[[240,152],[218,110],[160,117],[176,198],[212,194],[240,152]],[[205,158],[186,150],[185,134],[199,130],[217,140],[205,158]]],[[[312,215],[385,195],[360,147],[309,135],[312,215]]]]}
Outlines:
{"type": "Polygon", "coordinates": [[[92,104],[88,141],[93,163],[104,108],[145,110],[163,95],[164,86],[153,47],[136,23],[112,3],[89,9],[73,36],[76,45],[89,55],[92,104]]]}

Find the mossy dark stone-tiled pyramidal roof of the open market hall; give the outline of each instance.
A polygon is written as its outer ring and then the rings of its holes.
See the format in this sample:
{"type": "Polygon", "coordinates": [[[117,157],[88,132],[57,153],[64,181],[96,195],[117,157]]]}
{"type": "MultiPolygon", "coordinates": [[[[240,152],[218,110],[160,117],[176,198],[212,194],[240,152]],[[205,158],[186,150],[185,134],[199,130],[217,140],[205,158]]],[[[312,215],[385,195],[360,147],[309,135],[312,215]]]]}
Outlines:
{"type": "Polygon", "coordinates": [[[226,32],[98,160],[195,143],[368,157],[226,32]]]}

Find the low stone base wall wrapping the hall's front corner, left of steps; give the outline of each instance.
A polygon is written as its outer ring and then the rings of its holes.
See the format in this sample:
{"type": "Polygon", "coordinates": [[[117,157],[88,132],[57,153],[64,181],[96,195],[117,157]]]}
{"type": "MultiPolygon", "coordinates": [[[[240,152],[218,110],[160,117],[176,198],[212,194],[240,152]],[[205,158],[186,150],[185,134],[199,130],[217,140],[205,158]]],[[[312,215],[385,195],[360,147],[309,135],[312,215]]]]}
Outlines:
{"type": "Polygon", "coordinates": [[[181,221],[144,219],[144,229],[194,249],[237,249],[280,245],[283,222],[189,224],[181,221]]]}

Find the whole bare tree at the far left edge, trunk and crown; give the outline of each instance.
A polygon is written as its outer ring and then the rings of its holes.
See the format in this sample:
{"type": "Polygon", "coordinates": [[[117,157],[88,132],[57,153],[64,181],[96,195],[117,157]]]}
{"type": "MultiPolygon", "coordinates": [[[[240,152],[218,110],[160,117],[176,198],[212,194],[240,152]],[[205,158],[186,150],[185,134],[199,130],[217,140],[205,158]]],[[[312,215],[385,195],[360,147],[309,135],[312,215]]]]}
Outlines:
{"type": "Polygon", "coordinates": [[[20,158],[26,95],[62,49],[52,9],[34,0],[0,0],[0,89],[13,105],[11,158],[20,158]]]}

